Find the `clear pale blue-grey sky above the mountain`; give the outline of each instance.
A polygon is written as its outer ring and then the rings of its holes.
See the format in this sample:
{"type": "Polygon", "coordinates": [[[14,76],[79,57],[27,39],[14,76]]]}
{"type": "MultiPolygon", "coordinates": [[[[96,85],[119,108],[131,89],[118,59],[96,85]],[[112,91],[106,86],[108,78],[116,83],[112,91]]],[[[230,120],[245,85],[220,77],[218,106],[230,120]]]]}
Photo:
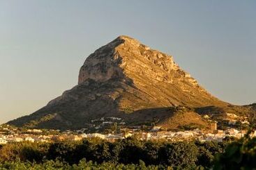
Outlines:
{"type": "Polygon", "coordinates": [[[211,94],[256,102],[256,1],[0,0],[0,123],[77,84],[118,35],[174,56],[211,94]]]}

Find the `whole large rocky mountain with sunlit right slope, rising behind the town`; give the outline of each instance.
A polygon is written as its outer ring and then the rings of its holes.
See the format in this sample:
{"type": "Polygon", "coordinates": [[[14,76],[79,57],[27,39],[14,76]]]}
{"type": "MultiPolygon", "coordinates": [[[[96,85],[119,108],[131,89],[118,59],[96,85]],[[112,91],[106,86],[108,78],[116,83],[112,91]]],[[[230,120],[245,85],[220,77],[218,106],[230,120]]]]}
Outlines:
{"type": "Polygon", "coordinates": [[[199,114],[209,110],[209,106],[232,105],[206,92],[172,56],[122,35],[86,58],[78,85],[33,114],[8,124],[61,130],[98,129],[102,126],[93,122],[121,119],[126,126],[160,124],[179,128],[183,124],[198,124],[207,127],[209,121],[199,114]],[[174,115],[180,115],[182,108],[193,110],[183,112],[186,113],[183,119],[188,119],[183,123],[176,122],[181,119],[178,116],[174,126],[174,115]]]}

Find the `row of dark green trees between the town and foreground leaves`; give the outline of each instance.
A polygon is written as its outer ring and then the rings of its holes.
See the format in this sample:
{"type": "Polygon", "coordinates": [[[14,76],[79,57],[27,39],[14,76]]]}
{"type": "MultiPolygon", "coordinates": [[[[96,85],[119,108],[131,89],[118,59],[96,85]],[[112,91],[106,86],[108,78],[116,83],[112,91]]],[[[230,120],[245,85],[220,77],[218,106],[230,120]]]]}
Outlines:
{"type": "Polygon", "coordinates": [[[222,153],[224,147],[225,144],[217,142],[142,141],[135,137],[116,142],[99,138],[49,144],[22,142],[2,146],[0,163],[2,167],[30,166],[34,169],[35,166],[80,169],[81,164],[101,169],[105,166],[112,169],[149,169],[149,165],[152,169],[167,169],[168,166],[173,169],[200,169],[213,167],[214,156],[222,153]],[[21,162],[11,163],[17,160],[21,162]]]}

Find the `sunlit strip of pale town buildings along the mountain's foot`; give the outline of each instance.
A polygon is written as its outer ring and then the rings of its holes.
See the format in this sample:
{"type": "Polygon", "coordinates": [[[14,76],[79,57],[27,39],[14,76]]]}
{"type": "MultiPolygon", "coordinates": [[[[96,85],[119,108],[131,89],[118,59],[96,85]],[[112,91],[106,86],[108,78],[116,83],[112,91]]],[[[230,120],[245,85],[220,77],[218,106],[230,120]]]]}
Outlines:
{"type": "MultiPolygon", "coordinates": [[[[57,141],[80,141],[83,138],[99,137],[101,139],[107,139],[110,142],[114,142],[116,139],[124,139],[126,137],[135,136],[138,139],[143,140],[158,140],[167,139],[170,141],[185,141],[198,139],[199,141],[218,141],[221,142],[226,137],[241,138],[246,135],[246,130],[236,130],[229,128],[227,130],[218,130],[216,124],[211,124],[210,130],[185,130],[185,131],[160,131],[160,127],[155,126],[150,132],[143,132],[139,128],[123,130],[123,133],[119,134],[101,134],[101,133],[80,133],[72,132],[58,133],[52,135],[45,135],[42,130],[29,129],[27,132],[19,133],[19,130],[15,128],[0,128],[0,144],[7,144],[12,142],[57,142],[57,141]]],[[[255,133],[251,134],[256,137],[255,133]]]]}

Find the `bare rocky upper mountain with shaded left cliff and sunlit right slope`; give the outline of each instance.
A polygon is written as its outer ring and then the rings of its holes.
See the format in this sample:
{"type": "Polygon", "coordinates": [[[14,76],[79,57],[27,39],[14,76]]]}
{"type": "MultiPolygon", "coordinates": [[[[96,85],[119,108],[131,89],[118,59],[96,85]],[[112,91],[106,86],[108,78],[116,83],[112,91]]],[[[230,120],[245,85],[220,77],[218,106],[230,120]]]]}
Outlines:
{"type": "MultiPolygon", "coordinates": [[[[223,104],[176,65],[172,56],[127,36],[117,37],[86,59],[80,69],[79,84],[89,78],[99,82],[113,78],[131,80],[137,91],[153,101],[155,107],[223,104]]],[[[129,103],[128,100],[121,99],[129,103]]],[[[143,105],[136,109],[140,108],[144,108],[143,105]]]]}

